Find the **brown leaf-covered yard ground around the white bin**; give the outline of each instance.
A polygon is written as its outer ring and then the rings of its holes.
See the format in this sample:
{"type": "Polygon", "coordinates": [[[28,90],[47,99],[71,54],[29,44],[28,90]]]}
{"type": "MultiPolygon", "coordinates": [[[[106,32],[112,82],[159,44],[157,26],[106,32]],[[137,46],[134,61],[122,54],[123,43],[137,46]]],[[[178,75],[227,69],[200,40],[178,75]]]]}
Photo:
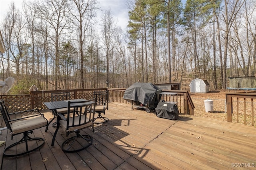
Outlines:
{"type": "MultiPolygon", "coordinates": [[[[227,121],[226,114],[226,93],[227,91],[210,91],[208,93],[190,93],[192,101],[195,105],[194,115],[206,117],[210,119],[218,119],[227,121]],[[211,99],[213,101],[213,112],[205,111],[204,100],[211,99]]],[[[244,104],[243,99],[239,100],[239,123],[244,123],[244,104]]],[[[254,101],[255,103],[255,101],[254,101]]],[[[233,116],[232,122],[236,122],[236,99],[233,99],[233,116]]],[[[206,104],[207,105],[207,104],[206,104]]],[[[209,105],[208,105],[209,106],[209,105]]],[[[254,126],[256,126],[256,104],[254,104],[254,126]]],[[[246,101],[246,125],[251,125],[251,103],[246,101]],[[248,106],[247,106],[248,105],[248,106]]]]}

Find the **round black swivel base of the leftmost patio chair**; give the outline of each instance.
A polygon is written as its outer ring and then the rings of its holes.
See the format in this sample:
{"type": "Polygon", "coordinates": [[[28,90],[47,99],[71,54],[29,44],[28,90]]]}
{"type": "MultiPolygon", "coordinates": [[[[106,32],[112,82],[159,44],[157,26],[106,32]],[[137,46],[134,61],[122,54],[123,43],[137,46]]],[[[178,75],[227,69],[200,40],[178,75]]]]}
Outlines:
{"type": "Polygon", "coordinates": [[[28,153],[30,153],[30,152],[33,152],[33,151],[39,149],[40,147],[42,147],[42,146],[44,145],[44,138],[31,138],[30,136],[28,136],[28,133],[32,133],[32,131],[30,131],[30,132],[24,132],[24,133],[23,133],[23,137],[20,139],[20,141],[15,142],[14,144],[11,144],[10,146],[6,147],[6,148],[4,149],[3,156],[7,156],[7,157],[21,156],[21,155],[24,155],[24,154],[28,154],[28,153]],[[28,142],[29,142],[29,141],[32,141],[32,140],[35,140],[37,145],[40,143],[39,141],[42,141],[42,143],[39,144],[37,147],[32,148],[32,149],[29,150],[28,142]],[[8,153],[8,151],[10,151],[10,150],[15,150],[15,151],[16,151],[16,149],[11,149],[11,148],[13,148],[13,147],[15,148],[16,145],[21,144],[21,143],[23,143],[23,142],[25,142],[25,145],[26,145],[26,151],[25,151],[25,152],[16,153],[16,154],[8,153]]]}

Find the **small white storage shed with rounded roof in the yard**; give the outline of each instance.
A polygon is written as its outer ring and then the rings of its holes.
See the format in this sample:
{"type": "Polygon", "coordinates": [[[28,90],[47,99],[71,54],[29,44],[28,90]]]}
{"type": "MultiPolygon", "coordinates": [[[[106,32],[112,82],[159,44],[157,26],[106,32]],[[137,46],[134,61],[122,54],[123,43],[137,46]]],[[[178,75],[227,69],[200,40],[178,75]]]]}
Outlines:
{"type": "Polygon", "coordinates": [[[189,87],[190,92],[192,93],[208,93],[210,89],[210,84],[207,80],[196,78],[191,81],[189,87]]]}

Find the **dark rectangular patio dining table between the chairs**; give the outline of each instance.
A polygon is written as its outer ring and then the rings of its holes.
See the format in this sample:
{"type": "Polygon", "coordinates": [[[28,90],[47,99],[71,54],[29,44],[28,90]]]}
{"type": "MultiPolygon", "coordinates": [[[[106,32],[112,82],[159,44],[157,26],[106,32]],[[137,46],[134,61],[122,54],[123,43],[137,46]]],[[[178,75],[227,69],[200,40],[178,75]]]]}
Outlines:
{"type": "Polygon", "coordinates": [[[57,132],[60,128],[60,115],[57,113],[57,109],[63,109],[63,108],[67,108],[68,107],[68,101],[87,101],[86,99],[73,99],[73,100],[64,100],[64,101],[50,101],[50,102],[44,102],[44,105],[52,111],[54,117],[53,119],[48,123],[47,125],[47,129],[48,126],[50,125],[50,123],[54,120],[55,117],[57,117],[57,128],[54,132],[54,135],[52,137],[52,146],[54,146],[54,141],[55,141],[55,137],[57,135],[57,132]]]}

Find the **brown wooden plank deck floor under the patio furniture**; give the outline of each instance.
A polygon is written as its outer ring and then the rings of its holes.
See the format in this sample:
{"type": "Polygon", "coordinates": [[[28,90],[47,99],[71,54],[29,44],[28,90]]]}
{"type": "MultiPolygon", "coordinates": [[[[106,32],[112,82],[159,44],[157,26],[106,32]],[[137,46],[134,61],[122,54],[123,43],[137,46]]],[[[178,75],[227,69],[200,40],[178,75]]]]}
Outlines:
{"type": "MultiPolygon", "coordinates": [[[[214,113],[213,113],[214,114],[214,113]]],[[[52,113],[45,113],[47,119],[52,113]]],[[[131,110],[130,105],[110,103],[103,125],[84,130],[93,144],[77,153],[64,153],[60,144],[66,134],[59,130],[55,145],[49,126],[34,130],[45,138],[40,150],[17,158],[3,157],[2,170],[210,170],[255,169],[256,128],[190,115],[180,115],[178,121],[162,119],[143,110],[131,110]],[[44,158],[48,158],[43,162],[44,158]],[[235,167],[233,167],[235,166],[235,167]]],[[[1,118],[2,119],[2,118],[1,118]]],[[[4,127],[2,123],[2,127],[4,127]]],[[[7,130],[1,136],[6,145],[14,142],[7,130]]],[[[20,136],[18,136],[19,138],[20,136]]]]}

